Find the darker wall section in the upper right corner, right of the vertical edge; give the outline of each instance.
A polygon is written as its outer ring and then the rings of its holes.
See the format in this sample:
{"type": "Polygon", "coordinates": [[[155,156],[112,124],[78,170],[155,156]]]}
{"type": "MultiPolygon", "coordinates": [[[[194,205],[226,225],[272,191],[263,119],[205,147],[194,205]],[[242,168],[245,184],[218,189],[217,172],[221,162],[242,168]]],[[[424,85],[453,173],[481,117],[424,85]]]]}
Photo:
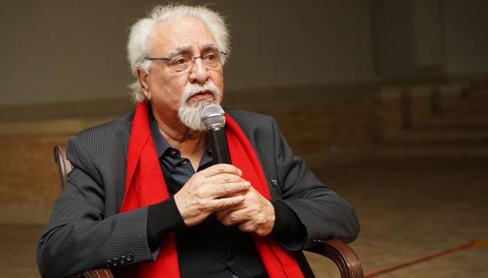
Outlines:
{"type": "Polygon", "coordinates": [[[375,76],[385,79],[488,73],[488,1],[370,3],[375,76]]]}

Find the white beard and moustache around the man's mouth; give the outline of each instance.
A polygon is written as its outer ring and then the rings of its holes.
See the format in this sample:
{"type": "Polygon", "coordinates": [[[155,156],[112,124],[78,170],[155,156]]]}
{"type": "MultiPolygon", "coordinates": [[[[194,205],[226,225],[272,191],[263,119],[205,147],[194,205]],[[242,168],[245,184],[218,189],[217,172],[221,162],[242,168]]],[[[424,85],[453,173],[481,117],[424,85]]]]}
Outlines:
{"type": "Polygon", "coordinates": [[[220,105],[220,99],[222,99],[222,92],[211,81],[207,81],[204,85],[188,84],[183,90],[181,96],[181,104],[178,109],[178,118],[185,126],[195,131],[206,131],[206,127],[201,122],[201,112],[204,111],[206,106],[211,104],[220,105]],[[188,99],[197,94],[201,90],[209,90],[212,92],[211,99],[202,99],[194,101],[192,104],[188,103],[188,99]]]}

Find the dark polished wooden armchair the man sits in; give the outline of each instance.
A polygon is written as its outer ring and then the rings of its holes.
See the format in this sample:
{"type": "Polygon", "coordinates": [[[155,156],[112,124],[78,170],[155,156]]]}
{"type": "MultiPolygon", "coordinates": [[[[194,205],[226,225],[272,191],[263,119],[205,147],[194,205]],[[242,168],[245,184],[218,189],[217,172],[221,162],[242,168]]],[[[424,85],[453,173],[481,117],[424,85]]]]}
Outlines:
{"type": "MultiPolygon", "coordinates": [[[[54,146],[54,161],[58,164],[59,181],[61,181],[61,190],[63,190],[64,185],[68,182],[68,173],[73,170],[73,165],[66,159],[66,146],[54,146]]],[[[331,259],[339,268],[342,278],[364,277],[358,256],[349,245],[342,243],[340,240],[329,239],[306,251],[331,259]]],[[[109,268],[100,268],[86,271],[79,277],[114,278],[114,275],[109,268]]]]}

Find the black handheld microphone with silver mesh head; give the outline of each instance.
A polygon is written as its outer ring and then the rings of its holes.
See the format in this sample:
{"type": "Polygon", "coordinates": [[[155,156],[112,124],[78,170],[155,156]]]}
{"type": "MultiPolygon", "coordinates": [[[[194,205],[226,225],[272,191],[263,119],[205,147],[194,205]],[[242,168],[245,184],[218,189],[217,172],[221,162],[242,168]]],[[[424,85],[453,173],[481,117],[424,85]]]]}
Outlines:
{"type": "Polygon", "coordinates": [[[213,164],[231,164],[231,154],[229,153],[229,145],[227,144],[227,136],[225,136],[224,129],[224,109],[215,104],[206,106],[204,111],[201,111],[201,122],[204,123],[207,129],[213,164]]]}

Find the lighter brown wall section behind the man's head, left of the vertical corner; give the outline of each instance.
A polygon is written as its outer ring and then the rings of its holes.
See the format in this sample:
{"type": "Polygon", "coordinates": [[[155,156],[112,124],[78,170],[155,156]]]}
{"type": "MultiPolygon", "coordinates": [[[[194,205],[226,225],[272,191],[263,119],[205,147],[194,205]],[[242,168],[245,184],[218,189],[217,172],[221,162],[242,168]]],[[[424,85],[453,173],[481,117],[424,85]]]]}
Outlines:
{"type": "MultiPolygon", "coordinates": [[[[205,3],[207,1],[188,1],[205,3]]],[[[361,1],[227,1],[233,52],[226,88],[371,79],[361,1]],[[311,57],[312,56],[312,57],[311,57]]],[[[10,1],[0,10],[0,105],[125,96],[126,28],[153,1],[10,1]]]]}

